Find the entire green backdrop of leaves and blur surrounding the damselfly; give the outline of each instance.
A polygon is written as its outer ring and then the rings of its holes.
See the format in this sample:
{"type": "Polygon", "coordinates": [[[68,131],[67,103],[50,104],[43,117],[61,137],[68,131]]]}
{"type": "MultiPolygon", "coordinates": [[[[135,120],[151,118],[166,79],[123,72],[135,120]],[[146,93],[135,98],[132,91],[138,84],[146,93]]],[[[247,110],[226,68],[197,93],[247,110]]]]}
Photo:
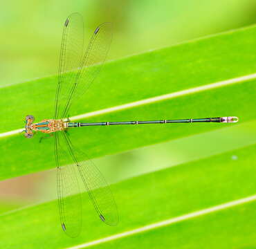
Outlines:
{"type": "MultiPolygon", "coordinates": [[[[84,17],[86,40],[113,22],[109,62],[71,116],[252,75],[255,1],[9,1],[0,15],[0,133],[51,118],[62,26],[84,17]],[[224,32],[227,31],[227,32],[224,32]],[[203,39],[198,39],[199,37],[203,39]]],[[[255,79],[86,118],[84,122],[238,116],[237,124],[89,127],[69,132],[100,168],[120,224],[84,196],[80,237],[57,214],[53,139],[0,138],[1,248],[67,248],[255,194],[255,79]]],[[[255,202],[95,248],[256,248],[255,202]],[[205,246],[207,245],[207,246],[205,246]]]]}

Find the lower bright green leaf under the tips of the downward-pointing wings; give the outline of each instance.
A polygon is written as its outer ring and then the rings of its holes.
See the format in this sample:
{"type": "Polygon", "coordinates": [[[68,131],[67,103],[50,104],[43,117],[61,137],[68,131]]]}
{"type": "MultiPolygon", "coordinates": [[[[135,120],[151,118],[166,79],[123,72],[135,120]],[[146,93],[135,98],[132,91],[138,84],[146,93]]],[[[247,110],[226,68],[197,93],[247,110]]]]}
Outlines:
{"type": "MultiPolygon", "coordinates": [[[[116,227],[100,221],[85,193],[83,230],[75,239],[62,232],[55,201],[1,215],[0,245],[21,249],[68,248],[253,196],[256,169],[251,162],[256,160],[255,149],[255,145],[244,147],[112,185],[120,211],[116,227]]],[[[201,248],[205,243],[208,248],[241,248],[244,243],[256,246],[254,210],[255,202],[241,203],[111,239],[94,248],[166,248],[168,244],[174,248],[201,248]]]]}

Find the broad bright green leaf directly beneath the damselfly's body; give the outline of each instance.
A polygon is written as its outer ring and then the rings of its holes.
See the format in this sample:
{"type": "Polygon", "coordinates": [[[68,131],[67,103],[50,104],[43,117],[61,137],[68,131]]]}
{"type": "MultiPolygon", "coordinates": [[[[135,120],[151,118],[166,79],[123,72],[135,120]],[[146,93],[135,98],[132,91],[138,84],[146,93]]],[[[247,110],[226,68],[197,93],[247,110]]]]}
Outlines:
{"type": "MultiPolygon", "coordinates": [[[[255,27],[244,28],[109,62],[70,116],[251,75],[256,68],[255,35],[255,27]]],[[[240,123],[254,120],[256,84],[255,77],[251,78],[81,121],[214,116],[239,116],[240,123]]],[[[1,132],[23,127],[28,114],[37,121],[51,118],[56,82],[57,77],[53,76],[1,89],[1,132]]],[[[72,129],[70,136],[77,147],[96,158],[226,125],[234,124],[83,127],[72,129]]],[[[39,143],[40,136],[30,140],[22,134],[1,138],[1,180],[55,167],[53,140],[39,143]]]]}

